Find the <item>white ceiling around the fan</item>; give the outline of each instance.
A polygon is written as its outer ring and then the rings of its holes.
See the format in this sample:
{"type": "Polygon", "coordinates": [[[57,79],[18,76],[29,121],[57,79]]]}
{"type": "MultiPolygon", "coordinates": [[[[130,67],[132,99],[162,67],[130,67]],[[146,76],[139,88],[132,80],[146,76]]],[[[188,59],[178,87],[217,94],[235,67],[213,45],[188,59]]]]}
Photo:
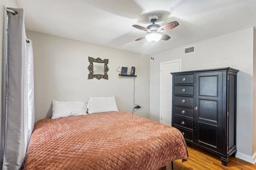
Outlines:
{"type": "MultiPolygon", "coordinates": [[[[26,29],[152,55],[256,26],[256,0],[17,0],[26,29]],[[178,21],[171,39],[150,43],[132,27],[178,21]]],[[[29,38],[29,37],[28,37],[29,38]]]]}

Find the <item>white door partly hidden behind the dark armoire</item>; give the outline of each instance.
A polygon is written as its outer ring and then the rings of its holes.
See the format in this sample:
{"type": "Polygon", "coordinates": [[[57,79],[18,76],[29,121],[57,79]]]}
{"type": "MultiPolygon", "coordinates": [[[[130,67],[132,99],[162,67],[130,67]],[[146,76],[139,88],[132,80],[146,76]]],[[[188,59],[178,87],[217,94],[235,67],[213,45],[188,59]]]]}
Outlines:
{"type": "Polygon", "coordinates": [[[181,71],[181,59],[160,63],[160,123],[172,125],[172,74],[181,71]]]}

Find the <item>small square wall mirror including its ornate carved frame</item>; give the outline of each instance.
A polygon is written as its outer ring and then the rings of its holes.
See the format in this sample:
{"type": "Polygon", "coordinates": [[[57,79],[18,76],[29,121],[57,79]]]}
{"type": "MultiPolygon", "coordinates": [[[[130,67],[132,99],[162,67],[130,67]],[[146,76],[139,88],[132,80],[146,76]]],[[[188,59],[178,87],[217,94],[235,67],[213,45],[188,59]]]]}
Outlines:
{"type": "Polygon", "coordinates": [[[88,79],[93,79],[97,78],[100,80],[101,78],[107,79],[108,80],[108,59],[94,59],[92,57],[88,57],[89,61],[89,74],[88,74],[88,79]]]}

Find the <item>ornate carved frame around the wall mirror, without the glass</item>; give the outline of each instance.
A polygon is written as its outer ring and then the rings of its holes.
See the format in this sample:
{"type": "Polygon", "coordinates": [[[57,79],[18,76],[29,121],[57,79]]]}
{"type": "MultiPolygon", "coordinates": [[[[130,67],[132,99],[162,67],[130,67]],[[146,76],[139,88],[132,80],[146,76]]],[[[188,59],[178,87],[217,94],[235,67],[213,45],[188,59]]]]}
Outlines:
{"type": "Polygon", "coordinates": [[[100,80],[101,78],[107,79],[108,80],[108,59],[94,59],[92,57],[88,57],[88,61],[89,61],[89,66],[87,67],[89,70],[89,74],[88,74],[88,79],[93,79],[93,78],[97,78],[98,80],[100,80]],[[93,63],[104,63],[104,74],[93,74],[93,63]]]}

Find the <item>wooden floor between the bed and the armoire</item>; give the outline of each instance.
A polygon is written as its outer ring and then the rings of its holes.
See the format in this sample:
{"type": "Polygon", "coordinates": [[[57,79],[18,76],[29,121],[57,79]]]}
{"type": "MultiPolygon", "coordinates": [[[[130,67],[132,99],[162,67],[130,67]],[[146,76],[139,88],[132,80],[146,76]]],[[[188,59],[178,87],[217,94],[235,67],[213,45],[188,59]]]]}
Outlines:
{"type": "MultiPolygon", "coordinates": [[[[174,170],[256,170],[256,164],[250,164],[231,156],[228,165],[223,166],[219,157],[193,146],[188,146],[188,155],[188,161],[186,162],[173,161],[174,170]]],[[[166,170],[171,169],[170,167],[171,164],[168,164],[166,170]]]]}

